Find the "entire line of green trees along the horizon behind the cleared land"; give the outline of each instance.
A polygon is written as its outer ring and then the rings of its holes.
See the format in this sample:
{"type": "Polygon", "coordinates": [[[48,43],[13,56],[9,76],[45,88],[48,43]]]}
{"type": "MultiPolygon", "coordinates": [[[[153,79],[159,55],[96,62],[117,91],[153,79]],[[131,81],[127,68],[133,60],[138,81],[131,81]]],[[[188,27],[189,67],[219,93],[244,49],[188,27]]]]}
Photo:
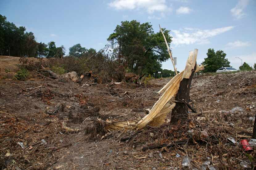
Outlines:
{"type": "MultiPolygon", "coordinates": [[[[170,46],[172,37],[170,30],[163,28],[163,33],[170,46]]],[[[161,32],[154,32],[149,22],[140,23],[136,20],[122,21],[117,25],[114,32],[107,38],[108,48],[101,50],[106,57],[116,60],[120,65],[126,68],[126,72],[134,72],[142,75],[162,72],[163,77],[174,75],[174,71],[162,69],[162,62],[169,59],[167,47],[161,32]]],[[[75,44],[69,48],[68,56],[81,57],[93,55],[96,50],[93,48],[82,47],[81,44],[75,44]]],[[[54,41],[44,44],[35,40],[34,33],[26,32],[23,26],[17,27],[14,23],[6,20],[5,16],[0,15],[0,54],[8,56],[25,57],[46,57],[63,58],[65,48],[63,45],[56,47],[54,41]]],[[[222,50],[214,51],[209,48],[207,57],[201,64],[207,64],[203,72],[215,72],[221,67],[231,67],[222,50]]],[[[253,69],[247,63],[244,63],[240,70],[253,69]]],[[[254,64],[256,69],[256,64],[254,64]]]]}

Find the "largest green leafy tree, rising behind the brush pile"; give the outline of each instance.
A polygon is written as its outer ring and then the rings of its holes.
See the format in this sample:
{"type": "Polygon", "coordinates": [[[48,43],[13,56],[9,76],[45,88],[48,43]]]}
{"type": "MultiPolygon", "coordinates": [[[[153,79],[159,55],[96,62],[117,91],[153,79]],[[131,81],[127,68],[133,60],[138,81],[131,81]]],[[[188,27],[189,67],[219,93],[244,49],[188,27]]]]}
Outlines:
{"type": "MultiPolygon", "coordinates": [[[[163,29],[168,45],[171,43],[169,32],[163,29]]],[[[122,21],[107,40],[112,44],[118,62],[124,62],[137,74],[152,74],[154,67],[161,67],[161,62],[169,58],[161,32],[154,33],[148,22],[122,21]]]]}

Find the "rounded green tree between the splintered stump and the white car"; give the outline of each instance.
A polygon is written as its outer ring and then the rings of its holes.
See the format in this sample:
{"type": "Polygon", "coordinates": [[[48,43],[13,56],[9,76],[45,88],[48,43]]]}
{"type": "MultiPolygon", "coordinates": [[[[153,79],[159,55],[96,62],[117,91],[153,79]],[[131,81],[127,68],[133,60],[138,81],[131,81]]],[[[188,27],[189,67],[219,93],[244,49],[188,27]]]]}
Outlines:
{"type": "Polygon", "coordinates": [[[215,72],[221,67],[230,67],[230,62],[226,59],[226,54],[222,50],[214,51],[209,48],[202,64],[207,64],[203,72],[215,72]]]}

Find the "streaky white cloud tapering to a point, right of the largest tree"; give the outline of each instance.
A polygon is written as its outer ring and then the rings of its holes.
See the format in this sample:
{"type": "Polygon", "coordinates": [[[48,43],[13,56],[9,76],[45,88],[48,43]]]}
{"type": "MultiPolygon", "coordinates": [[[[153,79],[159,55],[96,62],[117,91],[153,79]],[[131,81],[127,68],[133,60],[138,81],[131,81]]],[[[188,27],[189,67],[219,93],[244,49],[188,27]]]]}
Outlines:
{"type": "Polygon", "coordinates": [[[208,44],[209,38],[217,36],[221,33],[225,33],[233,29],[234,26],[222,27],[217,29],[186,29],[183,32],[181,30],[172,30],[174,35],[171,35],[173,38],[173,44],[178,46],[180,44],[208,44]]]}

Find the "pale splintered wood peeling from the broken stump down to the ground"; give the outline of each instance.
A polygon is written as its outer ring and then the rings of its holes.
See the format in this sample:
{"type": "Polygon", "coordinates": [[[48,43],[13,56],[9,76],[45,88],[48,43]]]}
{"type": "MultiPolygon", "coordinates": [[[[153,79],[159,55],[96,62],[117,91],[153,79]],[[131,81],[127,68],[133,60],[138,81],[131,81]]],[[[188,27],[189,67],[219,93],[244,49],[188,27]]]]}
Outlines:
{"type": "MultiPolygon", "coordinates": [[[[195,52],[190,52],[186,68],[184,71],[173,77],[160,91],[163,93],[159,100],[155,102],[154,106],[150,110],[149,114],[143,117],[141,120],[134,121],[121,121],[121,122],[107,122],[107,129],[142,129],[145,126],[160,126],[164,123],[167,113],[170,113],[175,107],[175,96],[179,90],[180,82],[183,78],[191,75],[192,70],[195,68],[197,57],[197,49],[195,52]],[[185,74],[186,73],[186,74],[185,74]],[[184,75],[185,74],[185,75],[184,75]]],[[[203,70],[204,66],[197,66],[195,72],[203,70]]]]}

